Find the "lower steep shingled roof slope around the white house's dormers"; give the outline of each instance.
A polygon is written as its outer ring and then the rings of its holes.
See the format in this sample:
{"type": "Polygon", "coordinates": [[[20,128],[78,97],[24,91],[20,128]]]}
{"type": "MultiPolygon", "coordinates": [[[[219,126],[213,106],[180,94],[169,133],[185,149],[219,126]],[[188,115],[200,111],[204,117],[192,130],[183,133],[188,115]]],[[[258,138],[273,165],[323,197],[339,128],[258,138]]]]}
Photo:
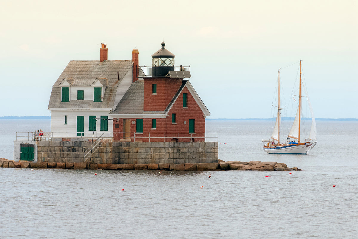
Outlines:
{"type": "Polygon", "coordinates": [[[61,87],[52,87],[48,108],[111,108],[116,97],[117,87],[106,87],[102,102],[93,102],[93,100],[71,100],[70,102],[61,102],[61,87]]]}

